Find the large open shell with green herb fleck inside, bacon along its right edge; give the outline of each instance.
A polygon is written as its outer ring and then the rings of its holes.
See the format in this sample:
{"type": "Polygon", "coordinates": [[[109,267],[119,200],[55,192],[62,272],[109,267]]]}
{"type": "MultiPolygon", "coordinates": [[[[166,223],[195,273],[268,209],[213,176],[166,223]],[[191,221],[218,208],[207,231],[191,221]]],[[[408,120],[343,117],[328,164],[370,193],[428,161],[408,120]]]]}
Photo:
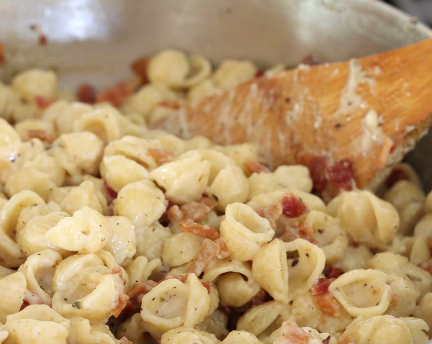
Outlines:
{"type": "Polygon", "coordinates": [[[82,316],[90,321],[118,315],[127,300],[124,279],[121,270],[110,269],[105,258],[115,264],[108,252],[101,257],[76,254],[63,260],[54,273],[52,308],[61,315],[82,316]]]}

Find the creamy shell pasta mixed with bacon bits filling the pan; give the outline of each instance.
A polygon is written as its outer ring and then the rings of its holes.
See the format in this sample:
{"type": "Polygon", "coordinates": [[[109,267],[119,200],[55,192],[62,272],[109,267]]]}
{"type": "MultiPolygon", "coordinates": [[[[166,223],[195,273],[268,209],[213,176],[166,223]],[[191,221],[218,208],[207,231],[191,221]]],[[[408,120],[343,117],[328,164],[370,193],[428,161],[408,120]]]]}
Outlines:
{"type": "Polygon", "coordinates": [[[0,343],[432,338],[432,193],[412,167],[326,204],[317,171],[147,127],[283,65],[140,62],[91,104],[52,71],[0,83],[0,343]]]}

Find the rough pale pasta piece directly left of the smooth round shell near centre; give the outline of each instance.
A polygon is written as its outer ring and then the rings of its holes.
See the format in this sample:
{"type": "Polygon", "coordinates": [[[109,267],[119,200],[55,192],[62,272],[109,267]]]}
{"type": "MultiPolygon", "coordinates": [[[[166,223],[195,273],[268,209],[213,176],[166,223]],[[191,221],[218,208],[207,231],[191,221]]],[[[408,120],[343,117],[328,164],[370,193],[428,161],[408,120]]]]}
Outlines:
{"type": "Polygon", "coordinates": [[[148,259],[162,258],[165,241],[172,236],[168,227],[159,222],[153,222],[149,226],[135,228],[137,236],[137,256],[143,255],[148,259]]]}

